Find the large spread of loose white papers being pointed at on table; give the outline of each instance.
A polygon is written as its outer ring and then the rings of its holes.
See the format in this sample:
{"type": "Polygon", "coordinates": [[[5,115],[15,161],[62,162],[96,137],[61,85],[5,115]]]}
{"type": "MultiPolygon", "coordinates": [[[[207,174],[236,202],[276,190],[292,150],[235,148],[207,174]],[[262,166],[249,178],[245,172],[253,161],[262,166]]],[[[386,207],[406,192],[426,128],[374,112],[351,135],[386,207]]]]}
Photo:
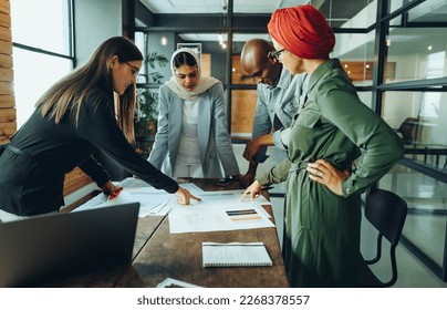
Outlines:
{"type": "Polygon", "coordinates": [[[169,215],[171,234],[274,227],[261,206],[270,204],[269,200],[260,196],[241,202],[242,189],[204,192],[193,183],[185,183],[180,186],[201,202],[191,199],[190,205],[184,206],[177,204],[175,195],[150,187],[141,179],[126,178],[116,185],[123,189],[115,198],[108,200],[105,194],[98,194],[75,210],[138,202],[139,217],[169,215]]]}

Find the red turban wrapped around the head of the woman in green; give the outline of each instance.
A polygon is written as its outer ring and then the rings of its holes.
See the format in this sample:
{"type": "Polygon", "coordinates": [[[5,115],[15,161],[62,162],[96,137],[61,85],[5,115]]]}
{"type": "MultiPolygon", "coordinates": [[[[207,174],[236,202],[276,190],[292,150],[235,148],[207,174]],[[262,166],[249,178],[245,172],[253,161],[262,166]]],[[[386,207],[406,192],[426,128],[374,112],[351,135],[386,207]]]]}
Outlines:
{"type": "Polygon", "coordinates": [[[303,59],[325,59],[335,45],[325,17],[310,4],[276,10],[268,29],[285,50],[303,59]]]}

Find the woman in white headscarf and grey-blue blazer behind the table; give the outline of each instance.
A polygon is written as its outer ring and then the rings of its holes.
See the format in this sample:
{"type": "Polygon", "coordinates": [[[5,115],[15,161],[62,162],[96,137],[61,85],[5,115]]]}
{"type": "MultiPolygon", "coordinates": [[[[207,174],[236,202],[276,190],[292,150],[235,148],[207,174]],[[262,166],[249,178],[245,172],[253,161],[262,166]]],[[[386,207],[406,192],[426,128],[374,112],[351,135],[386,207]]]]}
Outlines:
{"type": "Polygon", "coordinates": [[[239,177],[222,83],[201,76],[190,49],[177,50],[170,68],[173,76],[159,89],[158,127],[148,161],[171,177],[239,177]]]}

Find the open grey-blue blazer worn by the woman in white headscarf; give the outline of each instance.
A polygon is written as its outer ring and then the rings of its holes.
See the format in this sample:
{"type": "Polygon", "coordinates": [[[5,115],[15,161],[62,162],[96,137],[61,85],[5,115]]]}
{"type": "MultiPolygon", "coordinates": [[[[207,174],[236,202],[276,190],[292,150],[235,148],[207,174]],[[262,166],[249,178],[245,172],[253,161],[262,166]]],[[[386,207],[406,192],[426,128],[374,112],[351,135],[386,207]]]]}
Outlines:
{"type": "MultiPolygon", "coordinates": [[[[238,175],[239,167],[226,125],[222,84],[218,83],[201,93],[198,104],[197,138],[204,177],[238,175]]],[[[168,176],[173,176],[177,161],[183,107],[184,100],[167,85],[162,85],[157,134],[148,161],[168,176]]]]}

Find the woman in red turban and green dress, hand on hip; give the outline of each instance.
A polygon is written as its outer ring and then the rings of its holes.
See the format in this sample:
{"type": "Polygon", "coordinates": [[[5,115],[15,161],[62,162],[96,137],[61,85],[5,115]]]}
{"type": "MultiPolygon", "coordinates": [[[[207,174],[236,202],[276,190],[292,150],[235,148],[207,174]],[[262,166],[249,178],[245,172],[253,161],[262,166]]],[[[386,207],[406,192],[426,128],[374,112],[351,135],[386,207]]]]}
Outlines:
{"type": "Polygon", "coordinates": [[[311,6],[277,10],[269,22],[276,58],[310,76],[291,130],[288,158],[243,195],[287,179],[283,257],[292,287],[357,287],[361,193],[402,156],[394,131],[364,105],[337,59],[335,37],[311,6]],[[357,167],[352,163],[365,151],[357,167]]]}

